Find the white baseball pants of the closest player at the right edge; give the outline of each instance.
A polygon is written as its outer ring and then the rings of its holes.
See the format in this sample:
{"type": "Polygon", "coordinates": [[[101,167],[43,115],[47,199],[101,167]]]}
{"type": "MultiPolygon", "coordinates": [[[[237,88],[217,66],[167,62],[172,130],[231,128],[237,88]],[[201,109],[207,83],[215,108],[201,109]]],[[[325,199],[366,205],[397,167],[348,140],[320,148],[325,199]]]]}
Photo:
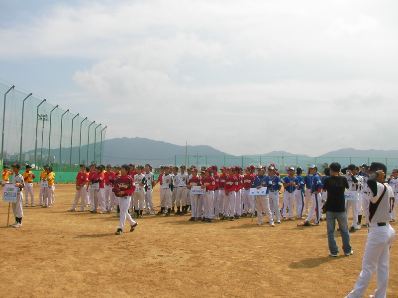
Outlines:
{"type": "Polygon", "coordinates": [[[377,223],[370,223],[370,225],[362,259],[362,271],[355,283],[354,290],[347,295],[348,298],[362,298],[365,295],[375,270],[378,287],[375,290],[375,298],[386,297],[389,282],[390,245],[395,240],[395,230],[390,223],[386,223],[385,226],[377,226],[377,223]]]}

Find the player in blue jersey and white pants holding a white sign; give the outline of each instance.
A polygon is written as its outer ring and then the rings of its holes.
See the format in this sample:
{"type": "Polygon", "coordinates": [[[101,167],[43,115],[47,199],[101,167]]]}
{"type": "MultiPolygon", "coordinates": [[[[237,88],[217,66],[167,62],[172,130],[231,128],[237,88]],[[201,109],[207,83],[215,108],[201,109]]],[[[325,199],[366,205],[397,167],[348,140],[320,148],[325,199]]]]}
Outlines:
{"type": "MultiPolygon", "coordinates": [[[[269,188],[271,187],[271,177],[265,174],[265,167],[262,165],[257,167],[257,172],[258,175],[253,181],[252,187],[255,187],[257,189],[266,187],[267,191],[265,195],[260,195],[257,196],[257,217],[258,217],[258,224],[257,225],[262,225],[263,224],[263,212],[267,215],[268,222],[270,223],[271,226],[275,226],[274,224],[274,217],[272,215],[272,212],[270,210],[270,201],[268,198],[269,194],[269,188]]],[[[278,211],[279,213],[279,211],[278,211]]]]}

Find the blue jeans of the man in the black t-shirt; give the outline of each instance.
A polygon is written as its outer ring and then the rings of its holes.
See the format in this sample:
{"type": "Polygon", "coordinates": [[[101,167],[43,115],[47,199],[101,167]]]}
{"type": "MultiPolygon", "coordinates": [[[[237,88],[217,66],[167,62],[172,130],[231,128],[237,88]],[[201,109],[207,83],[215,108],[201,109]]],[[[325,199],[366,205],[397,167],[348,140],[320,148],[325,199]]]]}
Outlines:
{"type": "Polygon", "coordinates": [[[343,251],[344,253],[349,253],[351,251],[350,233],[348,232],[348,217],[345,212],[326,211],[327,241],[329,242],[329,250],[333,254],[337,254],[339,252],[336,239],[334,238],[336,220],[339,224],[341,240],[343,241],[343,251]]]}

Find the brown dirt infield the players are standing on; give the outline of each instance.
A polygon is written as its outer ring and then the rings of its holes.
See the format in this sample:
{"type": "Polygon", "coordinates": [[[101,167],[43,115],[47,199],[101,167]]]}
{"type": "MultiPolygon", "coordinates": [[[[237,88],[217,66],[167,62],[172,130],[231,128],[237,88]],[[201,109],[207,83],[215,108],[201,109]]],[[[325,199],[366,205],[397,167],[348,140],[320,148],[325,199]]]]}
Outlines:
{"type": "MultiPolygon", "coordinates": [[[[328,256],[324,222],[270,227],[250,218],[193,223],[188,215],[146,215],[135,231],[126,224],[115,235],[113,213],[67,212],[74,194],[74,185],[57,184],[53,207],[24,207],[20,228],[4,226],[8,203],[0,202],[0,297],[336,298],[353,289],[361,271],[364,228],[351,234],[352,256],[342,254],[336,235],[337,258],[328,256]]],[[[158,186],[153,198],[158,205],[158,186]]],[[[397,246],[389,298],[398,297],[397,246]]],[[[366,297],[375,288],[374,277],[366,297]]]]}

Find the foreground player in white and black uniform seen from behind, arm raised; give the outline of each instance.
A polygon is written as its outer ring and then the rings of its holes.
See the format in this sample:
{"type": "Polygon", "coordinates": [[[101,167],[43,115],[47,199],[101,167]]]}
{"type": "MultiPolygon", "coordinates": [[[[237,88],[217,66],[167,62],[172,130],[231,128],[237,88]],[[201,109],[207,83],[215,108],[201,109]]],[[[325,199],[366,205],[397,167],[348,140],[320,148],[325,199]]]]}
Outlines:
{"type": "Polygon", "coordinates": [[[366,215],[368,239],[362,260],[362,271],[354,290],[346,298],[361,298],[376,270],[378,289],[370,298],[385,298],[387,294],[390,264],[390,245],[395,240],[395,230],[390,225],[394,208],[394,192],[386,182],[387,167],[381,162],[372,162],[367,184],[371,190],[369,212],[366,215]]]}

